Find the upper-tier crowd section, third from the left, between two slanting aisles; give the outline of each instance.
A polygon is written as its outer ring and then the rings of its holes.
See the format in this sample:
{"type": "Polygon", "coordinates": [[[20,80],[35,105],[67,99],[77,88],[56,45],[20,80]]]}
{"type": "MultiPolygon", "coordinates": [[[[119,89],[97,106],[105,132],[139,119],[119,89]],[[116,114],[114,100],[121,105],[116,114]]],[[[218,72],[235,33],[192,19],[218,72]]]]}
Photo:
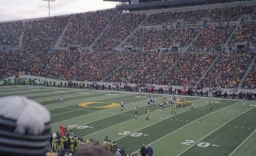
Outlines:
{"type": "Polygon", "coordinates": [[[60,46],[90,46],[114,14],[115,11],[110,9],[71,15],[69,27],[60,46]]]}

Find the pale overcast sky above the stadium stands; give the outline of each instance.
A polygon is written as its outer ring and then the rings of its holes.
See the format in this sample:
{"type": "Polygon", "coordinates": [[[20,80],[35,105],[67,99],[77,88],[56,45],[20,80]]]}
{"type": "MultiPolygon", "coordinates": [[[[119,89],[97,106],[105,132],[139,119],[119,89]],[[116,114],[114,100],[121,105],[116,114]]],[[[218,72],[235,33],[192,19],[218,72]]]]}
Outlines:
{"type": "MultiPolygon", "coordinates": [[[[50,1],[50,16],[115,8],[116,2],[103,0],[50,1]]],[[[0,22],[49,17],[48,1],[0,0],[0,22]]]]}

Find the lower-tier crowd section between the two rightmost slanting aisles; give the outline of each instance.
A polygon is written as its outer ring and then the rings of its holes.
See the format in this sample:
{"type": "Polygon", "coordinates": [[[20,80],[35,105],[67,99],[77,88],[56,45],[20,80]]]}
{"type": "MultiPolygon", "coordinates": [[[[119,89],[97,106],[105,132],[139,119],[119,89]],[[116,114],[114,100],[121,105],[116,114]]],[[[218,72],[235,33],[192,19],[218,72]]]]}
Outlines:
{"type": "Polygon", "coordinates": [[[216,63],[202,78],[199,86],[236,88],[244,76],[254,53],[251,52],[222,52],[216,63]]]}

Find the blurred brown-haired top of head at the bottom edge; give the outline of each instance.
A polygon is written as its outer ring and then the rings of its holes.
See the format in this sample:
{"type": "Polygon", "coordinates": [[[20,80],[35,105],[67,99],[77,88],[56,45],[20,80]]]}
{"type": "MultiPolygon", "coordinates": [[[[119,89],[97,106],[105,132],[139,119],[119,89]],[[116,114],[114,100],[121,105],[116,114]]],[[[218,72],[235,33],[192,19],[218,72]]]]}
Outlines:
{"type": "Polygon", "coordinates": [[[74,156],[113,156],[113,154],[107,145],[92,141],[80,147],[74,156]]]}

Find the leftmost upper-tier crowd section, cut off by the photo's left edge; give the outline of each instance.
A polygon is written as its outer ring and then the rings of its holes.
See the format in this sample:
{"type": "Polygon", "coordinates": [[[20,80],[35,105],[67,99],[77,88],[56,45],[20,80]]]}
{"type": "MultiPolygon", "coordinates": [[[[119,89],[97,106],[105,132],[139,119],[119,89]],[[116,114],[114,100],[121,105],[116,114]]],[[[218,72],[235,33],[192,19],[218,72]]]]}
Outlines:
{"type": "Polygon", "coordinates": [[[17,47],[22,30],[23,25],[21,21],[0,23],[0,45],[17,47]]]}

